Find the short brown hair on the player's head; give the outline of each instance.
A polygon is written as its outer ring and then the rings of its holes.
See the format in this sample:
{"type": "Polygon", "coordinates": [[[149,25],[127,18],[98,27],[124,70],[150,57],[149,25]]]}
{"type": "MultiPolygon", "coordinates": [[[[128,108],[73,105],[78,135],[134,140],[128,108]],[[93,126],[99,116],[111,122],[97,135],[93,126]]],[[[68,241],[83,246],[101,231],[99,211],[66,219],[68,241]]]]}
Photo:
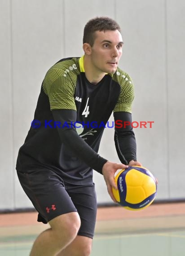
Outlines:
{"type": "Polygon", "coordinates": [[[95,40],[94,32],[106,30],[118,30],[121,33],[119,24],[109,17],[97,17],[89,20],[84,27],[83,44],[88,43],[93,46],[95,40]]]}

